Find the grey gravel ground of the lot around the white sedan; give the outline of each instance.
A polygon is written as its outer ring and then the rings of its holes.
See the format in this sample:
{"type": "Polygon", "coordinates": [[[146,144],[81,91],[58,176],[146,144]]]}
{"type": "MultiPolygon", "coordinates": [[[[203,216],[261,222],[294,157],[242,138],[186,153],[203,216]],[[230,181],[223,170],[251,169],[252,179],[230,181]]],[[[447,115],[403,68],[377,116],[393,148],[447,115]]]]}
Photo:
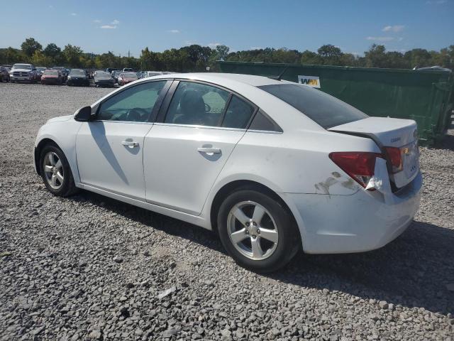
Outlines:
{"type": "Polygon", "coordinates": [[[262,276],[199,227],[45,190],[39,126],[109,91],[0,83],[0,340],[454,340],[454,136],[421,148],[401,237],[262,276]]]}

